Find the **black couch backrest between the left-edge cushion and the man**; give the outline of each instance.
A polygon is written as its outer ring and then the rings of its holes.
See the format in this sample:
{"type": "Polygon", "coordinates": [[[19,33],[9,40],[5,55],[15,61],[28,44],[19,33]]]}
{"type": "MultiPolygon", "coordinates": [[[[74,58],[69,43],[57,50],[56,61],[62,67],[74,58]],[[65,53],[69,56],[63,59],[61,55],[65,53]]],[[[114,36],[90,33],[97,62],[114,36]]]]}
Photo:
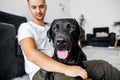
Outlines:
{"type": "MultiPolygon", "coordinates": [[[[4,22],[4,23],[14,25],[15,35],[17,34],[17,31],[18,31],[18,28],[19,28],[20,24],[23,23],[23,22],[26,22],[26,21],[27,21],[27,19],[23,16],[18,16],[18,15],[14,15],[14,14],[11,14],[11,13],[0,11],[0,22],[4,22]]],[[[16,36],[14,36],[14,38],[15,37],[16,36]]],[[[15,38],[14,44],[15,44],[15,48],[14,48],[15,55],[16,55],[16,58],[17,58],[17,60],[15,60],[15,61],[17,61],[17,73],[16,73],[16,75],[17,76],[22,76],[22,75],[25,74],[24,58],[23,58],[21,48],[18,45],[18,41],[17,41],[16,38],[15,38]]]]}

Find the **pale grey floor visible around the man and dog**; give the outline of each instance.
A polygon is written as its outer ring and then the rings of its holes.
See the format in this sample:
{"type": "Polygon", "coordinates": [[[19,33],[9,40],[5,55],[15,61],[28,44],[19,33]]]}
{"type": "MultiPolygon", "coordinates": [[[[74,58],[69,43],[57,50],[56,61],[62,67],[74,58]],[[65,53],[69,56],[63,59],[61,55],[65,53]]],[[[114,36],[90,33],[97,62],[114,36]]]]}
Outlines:
{"type": "MultiPolygon", "coordinates": [[[[120,47],[92,47],[85,46],[82,48],[87,55],[88,60],[102,59],[108,61],[118,70],[120,70],[120,47]]],[[[29,80],[28,75],[18,77],[12,80],[29,80]]]]}

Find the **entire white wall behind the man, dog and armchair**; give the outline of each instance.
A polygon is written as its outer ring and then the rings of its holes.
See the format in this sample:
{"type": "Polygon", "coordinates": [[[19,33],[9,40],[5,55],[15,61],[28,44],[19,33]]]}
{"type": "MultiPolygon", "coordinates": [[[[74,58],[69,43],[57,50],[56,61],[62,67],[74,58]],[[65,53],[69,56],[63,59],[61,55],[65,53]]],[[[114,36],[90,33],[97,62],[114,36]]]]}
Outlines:
{"type": "MultiPolygon", "coordinates": [[[[109,26],[110,32],[116,32],[120,27],[112,27],[113,22],[120,20],[120,0],[46,0],[48,9],[45,21],[55,18],[73,17],[79,19],[84,14],[86,33],[92,33],[93,27],[109,26]],[[63,4],[65,10],[62,10],[63,4]]],[[[0,10],[32,18],[27,0],[0,0],[0,10]]]]}

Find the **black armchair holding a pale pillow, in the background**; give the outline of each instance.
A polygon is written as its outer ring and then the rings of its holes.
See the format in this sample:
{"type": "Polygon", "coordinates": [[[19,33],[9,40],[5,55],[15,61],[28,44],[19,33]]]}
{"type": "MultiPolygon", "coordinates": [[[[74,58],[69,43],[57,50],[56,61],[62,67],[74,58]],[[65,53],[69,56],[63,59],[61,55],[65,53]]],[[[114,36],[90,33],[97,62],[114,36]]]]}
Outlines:
{"type": "Polygon", "coordinates": [[[87,45],[91,46],[114,46],[116,34],[109,33],[109,27],[93,28],[93,34],[87,34],[87,45]]]}

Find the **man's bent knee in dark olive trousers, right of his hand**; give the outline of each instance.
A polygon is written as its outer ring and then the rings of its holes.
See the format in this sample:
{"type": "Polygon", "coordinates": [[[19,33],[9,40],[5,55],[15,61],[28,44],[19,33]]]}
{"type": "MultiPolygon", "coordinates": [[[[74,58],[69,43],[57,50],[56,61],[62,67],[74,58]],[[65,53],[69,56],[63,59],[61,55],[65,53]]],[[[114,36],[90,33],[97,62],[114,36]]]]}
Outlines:
{"type": "Polygon", "coordinates": [[[105,60],[85,61],[84,65],[93,80],[120,80],[120,71],[105,60]]]}

